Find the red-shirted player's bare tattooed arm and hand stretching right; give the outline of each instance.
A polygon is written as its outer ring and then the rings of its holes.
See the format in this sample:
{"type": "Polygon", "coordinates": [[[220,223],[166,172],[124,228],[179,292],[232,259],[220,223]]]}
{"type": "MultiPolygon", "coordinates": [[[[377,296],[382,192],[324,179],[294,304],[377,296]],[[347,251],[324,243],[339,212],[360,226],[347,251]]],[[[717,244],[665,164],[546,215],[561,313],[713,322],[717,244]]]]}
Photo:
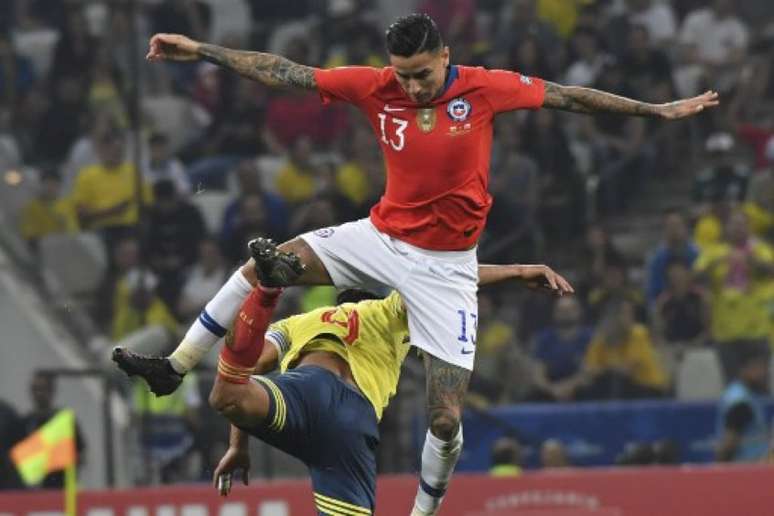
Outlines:
{"type": "Polygon", "coordinates": [[[574,113],[620,113],[622,115],[677,120],[701,113],[719,103],[718,94],[714,91],[707,91],[697,97],[665,104],[651,104],[593,88],[562,86],[546,81],[543,107],[574,113]]]}

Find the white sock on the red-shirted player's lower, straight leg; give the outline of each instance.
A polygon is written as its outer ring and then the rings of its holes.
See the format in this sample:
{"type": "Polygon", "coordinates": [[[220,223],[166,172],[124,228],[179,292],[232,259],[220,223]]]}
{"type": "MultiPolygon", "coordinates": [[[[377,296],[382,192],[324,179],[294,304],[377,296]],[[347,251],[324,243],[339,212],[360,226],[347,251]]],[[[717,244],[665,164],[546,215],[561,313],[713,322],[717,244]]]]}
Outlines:
{"type": "Polygon", "coordinates": [[[461,451],[462,425],[457,435],[448,442],[437,438],[430,430],[427,431],[425,445],[422,448],[419,489],[412,514],[431,515],[438,511],[461,451]]]}

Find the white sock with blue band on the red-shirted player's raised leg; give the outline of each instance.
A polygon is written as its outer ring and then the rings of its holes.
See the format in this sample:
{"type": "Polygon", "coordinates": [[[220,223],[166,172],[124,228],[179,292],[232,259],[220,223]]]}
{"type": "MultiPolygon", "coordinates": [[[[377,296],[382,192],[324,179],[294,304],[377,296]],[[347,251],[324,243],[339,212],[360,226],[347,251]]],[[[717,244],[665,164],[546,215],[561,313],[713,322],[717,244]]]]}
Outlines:
{"type": "Polygon", "coordinates": [[[169,355],[169,362],[175,371],[184,374],[193,369],[215,343],[226,335],[239,307],[252,289],[240,270],[231,275],[204,307],[183,341],[169,355]]]}

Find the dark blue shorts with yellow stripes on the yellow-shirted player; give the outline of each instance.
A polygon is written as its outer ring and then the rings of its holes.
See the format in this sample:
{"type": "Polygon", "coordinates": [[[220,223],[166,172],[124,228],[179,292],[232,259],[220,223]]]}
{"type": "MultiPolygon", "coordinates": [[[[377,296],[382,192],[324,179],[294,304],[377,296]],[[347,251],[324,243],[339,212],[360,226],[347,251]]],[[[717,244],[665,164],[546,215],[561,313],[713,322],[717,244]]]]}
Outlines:
{"type": "Polygon", "coordinates": [[[318,514],[372,514],[379,445],[373,405],[322,367],[254,379],[269,394],[269,413],[243,430],[307,465],[318,514]]]}

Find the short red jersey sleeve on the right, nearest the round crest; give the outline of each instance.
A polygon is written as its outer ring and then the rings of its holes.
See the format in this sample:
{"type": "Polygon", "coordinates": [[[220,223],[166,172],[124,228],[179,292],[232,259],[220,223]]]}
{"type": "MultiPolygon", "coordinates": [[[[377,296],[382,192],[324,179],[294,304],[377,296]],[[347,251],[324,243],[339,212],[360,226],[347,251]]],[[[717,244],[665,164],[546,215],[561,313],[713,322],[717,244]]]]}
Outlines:
{"type": "Polygon", "coordinates": [[[485,70],[486,99],[495,113],[514,109],[537,109],[543,105],[543,79],[506,70],[485,70]]]}

